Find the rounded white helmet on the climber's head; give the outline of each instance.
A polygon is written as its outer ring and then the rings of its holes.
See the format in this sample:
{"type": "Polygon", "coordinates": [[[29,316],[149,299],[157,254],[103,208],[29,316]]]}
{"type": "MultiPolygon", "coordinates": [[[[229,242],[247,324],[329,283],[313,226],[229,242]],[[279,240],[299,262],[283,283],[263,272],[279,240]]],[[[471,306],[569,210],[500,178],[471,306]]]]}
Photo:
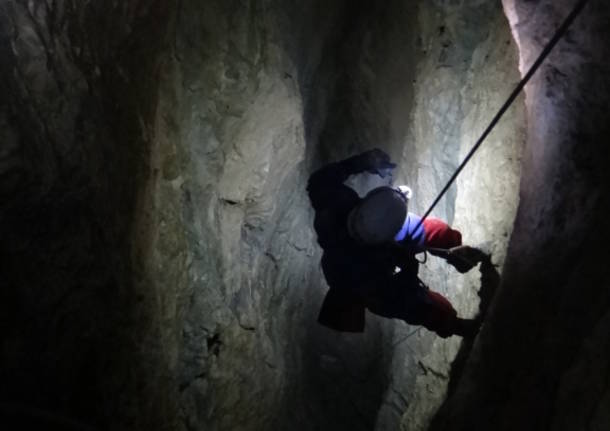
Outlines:
{"type": "Polygon", "coordinates": [[[350,236],[370,245],[393,241],[407,216],[405,192],[392,187],[371,190],[349,214],[350,236]]]}

